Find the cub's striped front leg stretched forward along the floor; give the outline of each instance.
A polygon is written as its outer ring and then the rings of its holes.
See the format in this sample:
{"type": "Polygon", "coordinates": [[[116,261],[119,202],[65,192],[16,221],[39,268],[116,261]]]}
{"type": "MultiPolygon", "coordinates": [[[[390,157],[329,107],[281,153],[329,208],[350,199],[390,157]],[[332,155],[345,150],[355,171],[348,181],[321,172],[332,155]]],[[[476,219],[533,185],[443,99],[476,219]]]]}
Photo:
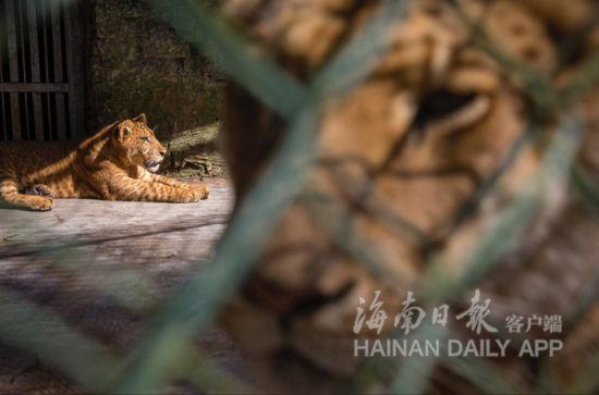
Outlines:
{"type": "Polygon", "coordinates": [[[108,181],[108,187],[103,195],[106,195],[105,198],[108,200],[162,201],[173,203],[188,203],[207,198],[207,193],[203,189],[152,183],[121,174],[108,181]]]}

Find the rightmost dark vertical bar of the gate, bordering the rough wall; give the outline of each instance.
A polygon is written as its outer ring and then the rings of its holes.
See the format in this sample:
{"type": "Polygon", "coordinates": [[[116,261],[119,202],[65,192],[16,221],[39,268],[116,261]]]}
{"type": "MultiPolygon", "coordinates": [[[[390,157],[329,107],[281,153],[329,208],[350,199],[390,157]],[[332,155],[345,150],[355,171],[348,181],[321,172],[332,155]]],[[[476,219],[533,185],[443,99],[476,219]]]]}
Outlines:
{"type": "Polygon", "coordinates": [[[69,110],[71,121],[71,137],[85,135],[84,122],[84,85],[83,85],[83,57],[81,46],[81,29],[77,15],[77,3],[65,4],[64,26],[66,33],[68,53],[68,82],[69,82],[69,110]]]}

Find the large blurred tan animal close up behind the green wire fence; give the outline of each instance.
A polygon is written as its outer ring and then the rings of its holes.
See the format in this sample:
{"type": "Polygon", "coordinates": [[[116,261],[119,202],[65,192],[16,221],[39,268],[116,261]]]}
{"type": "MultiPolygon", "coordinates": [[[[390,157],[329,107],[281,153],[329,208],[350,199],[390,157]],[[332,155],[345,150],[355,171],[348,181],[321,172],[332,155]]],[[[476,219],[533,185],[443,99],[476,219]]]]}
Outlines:
{"type": "MultiPolygon", "coordinates": [[[[228,0],[223,12],[281,67],[309,82],[381,3],[228,0]]],[[[500,53],[555,85],[567,82],[599,48],[596,1],[456,3],[480,22],[500,53]],[[559,50],[563,42],[570,45],[567,53],[559,50]]],[[[407,292],[417,297],[426,288],[432,258],[443,262],[436,269],[445,283],[460,277],[479,236],[539,180],[555,137],[559,114],[535,114],[523,79],[474,44],[450,1],[412,4],[408,15],[381,38],[389,50],[372,72],[345,97],[327,101],[306,187],[221,316],[223,326],[252,353],[265,382],[278,390],[340,391],[355,378],[366,360],[354,357],[354,341],[384,338],[393,322],[389,319],[380,335],[368,330],[356,335],[360,298],[367,309],[381,291],[392,318],[407,292]],[[530,132],[531,124],[540,125],[539,134],[530,132]],[[481,194],[513,147],[530,136],[536,137],[522,145],[497,185],[481,194]]],[[[594,149],[599,144],[599,90],[590,88],[570,110],[586,132],[577,162],[599,180],[594,149]]],[[[240,201],[268,165],[286,126],[231,84],[222,146],[240,201]]],[[[492,299],[489,320],[496,324],[504,325],[509,314],[563,317],[569,330],[560,335],[565,346],[558,358],[530,361],[511,349],[496,361],[498,371],[524,392],[534,390],[546,368],[555,388],[566,391],[599,351],[594,330],[599,305],[573,308],[589,300],[589,294],[597,296],[599,246],[594,240],[599,222],[566,178],[541,182],[530,224],[491,271],[469,284],[492,299]]],[[[470,296],[448,300],[452,311],[465,309],[470,296]]],[[[462,323],[451,326],[461,336],[472,335],[461,331],[462,323]]],[[[521,342],[513,343],[516,350],[521,342]]],[[[481,391],[447,369],[448,363],[451,359],[437,365],[429,391],[481,391]]]]}

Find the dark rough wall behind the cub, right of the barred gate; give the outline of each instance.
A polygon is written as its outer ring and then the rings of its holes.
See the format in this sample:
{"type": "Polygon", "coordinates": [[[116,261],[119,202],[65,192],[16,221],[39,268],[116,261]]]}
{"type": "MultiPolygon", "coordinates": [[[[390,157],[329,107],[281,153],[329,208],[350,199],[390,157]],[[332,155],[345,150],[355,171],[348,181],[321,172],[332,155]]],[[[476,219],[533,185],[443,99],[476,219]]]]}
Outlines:
{"type": "Polygon", "coordinates": [[[87,3],[88,126],[145,112],[159,138],[218,121],[222,77],[143,0],[87,3]]]}

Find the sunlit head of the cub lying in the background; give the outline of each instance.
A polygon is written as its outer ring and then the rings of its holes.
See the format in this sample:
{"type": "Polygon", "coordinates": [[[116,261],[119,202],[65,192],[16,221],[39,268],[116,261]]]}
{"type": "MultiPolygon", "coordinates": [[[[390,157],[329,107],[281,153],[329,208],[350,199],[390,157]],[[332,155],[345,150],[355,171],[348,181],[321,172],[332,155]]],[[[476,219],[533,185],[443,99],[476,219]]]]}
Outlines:
{"type": "Polygon", "coordinates": [[[146,114],[117,124],[112,138],[120,150],[120,159],[130,165],[156,173],[164,160],[167,149],[148,127],[146,114]]]}

